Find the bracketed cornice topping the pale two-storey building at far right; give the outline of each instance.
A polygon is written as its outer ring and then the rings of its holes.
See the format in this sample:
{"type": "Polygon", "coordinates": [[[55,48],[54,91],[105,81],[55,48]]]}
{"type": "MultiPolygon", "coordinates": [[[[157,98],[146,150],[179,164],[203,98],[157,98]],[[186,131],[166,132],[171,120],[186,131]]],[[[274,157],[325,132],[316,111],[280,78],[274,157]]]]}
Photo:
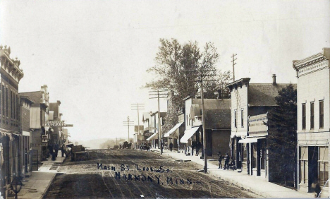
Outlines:
{"type": "Polygon", "coordinates": [[[330,48],[324,48],[322,50],[323,52],[305,59],[292,61],[292,66],[297,72],[297,78],[323,70],[324,68],[329,68],[330,48]]]}

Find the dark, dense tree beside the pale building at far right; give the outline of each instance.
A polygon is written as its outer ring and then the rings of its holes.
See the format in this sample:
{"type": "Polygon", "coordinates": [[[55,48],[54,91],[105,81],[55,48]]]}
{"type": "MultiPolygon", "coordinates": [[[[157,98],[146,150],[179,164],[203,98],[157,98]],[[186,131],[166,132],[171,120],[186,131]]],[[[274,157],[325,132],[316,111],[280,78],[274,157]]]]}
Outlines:
{"type": "Polygon", "coordinates": [[[268,114],[269,127],[268,149],[269,165],[276,172],[277,181],[292,179],[296,167],[297,146],[297,90],[288,85],[275,97],[276,104],[268,114]]]}

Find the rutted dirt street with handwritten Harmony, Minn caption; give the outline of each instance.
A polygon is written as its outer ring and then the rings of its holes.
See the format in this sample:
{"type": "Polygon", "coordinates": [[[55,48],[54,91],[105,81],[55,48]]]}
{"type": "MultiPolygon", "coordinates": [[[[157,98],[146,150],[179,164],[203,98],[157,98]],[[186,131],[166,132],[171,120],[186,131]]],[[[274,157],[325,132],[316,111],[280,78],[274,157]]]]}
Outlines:
{"type": "Polygon", "coordinates": [[[58,167],[45,198],[257,198],[193,162],[140,150],[90,150],[90,160],[58,167]]]}

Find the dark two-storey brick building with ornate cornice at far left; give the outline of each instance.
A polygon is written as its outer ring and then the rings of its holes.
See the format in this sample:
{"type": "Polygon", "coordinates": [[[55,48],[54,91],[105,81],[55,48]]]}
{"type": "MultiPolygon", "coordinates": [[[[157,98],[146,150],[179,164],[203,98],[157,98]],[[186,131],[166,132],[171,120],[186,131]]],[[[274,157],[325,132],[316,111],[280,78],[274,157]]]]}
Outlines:
{"type": "Polygon", "coordinates": [[[11,48],[0,46],[0,190],[8,194],[9,184],[14,176],[22,173],[19,147],[20,106],[18,84],[23,78],[20,61],[11,59],[11,48]]]}

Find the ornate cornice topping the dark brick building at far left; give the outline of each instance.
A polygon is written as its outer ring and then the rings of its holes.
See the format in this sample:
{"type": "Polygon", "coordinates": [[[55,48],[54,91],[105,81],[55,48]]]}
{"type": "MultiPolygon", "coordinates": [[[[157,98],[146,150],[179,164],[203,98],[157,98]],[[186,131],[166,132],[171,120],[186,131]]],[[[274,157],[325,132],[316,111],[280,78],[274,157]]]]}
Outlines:
{"type": "Polygon", "coordinates": [[[0,45],[1,71],[19,83],[24,76],[23,69],[20,68],[20,60],[17,57],[16,59],[11,59],[10,55],[11,47],[7,48],[7,46],[3,47],[0,45]]]}

